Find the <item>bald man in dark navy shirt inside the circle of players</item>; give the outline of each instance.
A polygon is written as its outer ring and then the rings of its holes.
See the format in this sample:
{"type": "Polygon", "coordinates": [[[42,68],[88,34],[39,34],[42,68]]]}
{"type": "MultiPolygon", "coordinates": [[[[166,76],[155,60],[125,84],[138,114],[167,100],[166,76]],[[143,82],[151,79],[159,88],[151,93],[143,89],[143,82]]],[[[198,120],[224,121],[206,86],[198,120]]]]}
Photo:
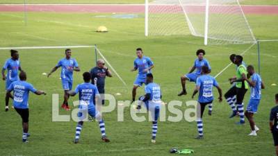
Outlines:
{"type": "MultiPolygon", "coordinates": [[[[99,90],[99,94],[101,94],[100,99],[104,99],[104,85],[106,76],[112,77],[111,71],[105,67],[105,62],[102,59],[97,60],[97,67],[94,67],[90,70],[91,74],[91,82],[94,85],[97,85],[97,89],[99,90]],[[95,84],[97,83],[97,84],[95,84]]],[[[101,101],[104,105],[104,100],[101,101]]]]}

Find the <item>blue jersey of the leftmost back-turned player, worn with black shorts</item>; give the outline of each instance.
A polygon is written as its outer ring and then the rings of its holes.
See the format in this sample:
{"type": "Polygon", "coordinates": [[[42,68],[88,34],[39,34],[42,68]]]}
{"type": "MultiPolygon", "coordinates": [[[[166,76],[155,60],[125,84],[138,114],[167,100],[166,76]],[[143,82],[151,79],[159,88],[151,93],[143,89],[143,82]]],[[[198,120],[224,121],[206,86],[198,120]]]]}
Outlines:
{"type": "Polygon", "coordinates": [[[28,108],[29,92],[35,93],[37,90],[30,83],[17,80],[10,84],[7,91],[13,91],[13,106],[15,108],[26,109],[28,108]]]}

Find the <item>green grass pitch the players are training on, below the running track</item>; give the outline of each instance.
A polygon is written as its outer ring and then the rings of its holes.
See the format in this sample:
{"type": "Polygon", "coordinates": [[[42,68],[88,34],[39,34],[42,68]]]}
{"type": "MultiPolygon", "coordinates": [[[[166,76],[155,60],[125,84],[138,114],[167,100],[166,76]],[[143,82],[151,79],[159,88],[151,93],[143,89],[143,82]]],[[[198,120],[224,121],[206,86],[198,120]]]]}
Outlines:
{"type": "MultiPolygon", "coordinates": [[[[28,13],[27,26],[24,26],[21,12],[1,12],[0,43],[3,47],[97,44],[128,85],[124,87],[116,76],[106,79],[107,93],[122,93],[122,96],[117,96],[119,101],[131,100],[131,88],[136,73],[129,70],[136,58],[135,49],[140,46],[145,50],[145,55],[154,61],[155,82],[161,85],[163,101],[183,101],[181,110],[187,108],[185,102],[191,100],[194,84],[188,84],[188,96],[178,97],[179,78],[192,66],[197,49],[206,50],[212,75],[215,75],[229,64],[231,52],[240,53],[250,46],[204,46],[202,38],[192,36],[145,37],[142,16],[136,19],[114,19],[99,18],[96,15],[104,14],[31,12],[28,13]],[[95,33],[100,25],[107,26],[109,32],[95,33]]],[[[247,15],[247,18],[257,38],[278,39],[275,31],[277,15],[247,15]]],[[[124,111],[124,122],[117,122],[117,111],[104,114],[106,133],[111,143],[101,142],[98,124],[90,122],[83,127],[80,144],[72,144],[76,123],[51,121],[51,94],[60,94],[60,103],[63,97],[60,70],[51,78],[42,76],[42,73],[49,72],[64,57],[64,49],[20,50],[22,68],[28,74],[28,82],[47,92],[47,96],[31,94],[31,137],[28,144],[22,144],[21,119],[15,110],[4,112],[5,83],[0,83],[0,155],[171,155],[168,150],[172,147],[192,148],[195,156],[274,155],[268,120],[270,108],[275,105],[274,95],[277,93],[277,87],[271,86],[272,83],[277,83],[277,49],[277,42],[261,43],[261,76],[266,89],[263,90],[263,99],[255,118],[256,125],[261,128],[257,137],[247,136],[250,132],[248,123],[238,126],[235,124],[238,118],[228,119],[231,112],[226,102],[215,101],[213,116],[204,115],[203,140],[194,139],[197,135],[195,122],[159,122],[156,144],[151,144],[150,141],[151,123],[132,121],[128,109],[124,111]]],[[[94,66],[93,52],[93,49],[73,49],[72,57],[76,58],[81,67],[81,72],[74,73],[74,87],[82,83],[82,73],[94,66]]],[[[3,50],[0,53],[0,64],[4,64],[10,54],[3,50]]],[[[258,67],[256,46],[245,53],[245,62],[258,67]]],[[[217,78],[224,92],[229,89],[227,80],[234,73],[235,67],[232,66],[217,78]]],[[[143,89],[138,89],[138,95],[141,94],[143,89]]],[[[245,96],[245,107],[249,96],[250,92],[245,96]]],[[[70,104],[76,100],[76,97],[70,98],[70,104]]],[[[70,112],[60,110],[60,114],[70,112]]]]}

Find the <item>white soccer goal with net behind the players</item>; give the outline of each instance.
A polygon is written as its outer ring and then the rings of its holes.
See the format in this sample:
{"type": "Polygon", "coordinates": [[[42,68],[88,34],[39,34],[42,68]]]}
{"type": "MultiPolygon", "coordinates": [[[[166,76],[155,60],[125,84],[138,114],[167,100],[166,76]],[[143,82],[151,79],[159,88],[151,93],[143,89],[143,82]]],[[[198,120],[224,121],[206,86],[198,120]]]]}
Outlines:
{"type": "Polygon", "coordinates": [[[204,44],[253,44],[238,0],[145,0],[145,35],[193,35],[204,44]]]}

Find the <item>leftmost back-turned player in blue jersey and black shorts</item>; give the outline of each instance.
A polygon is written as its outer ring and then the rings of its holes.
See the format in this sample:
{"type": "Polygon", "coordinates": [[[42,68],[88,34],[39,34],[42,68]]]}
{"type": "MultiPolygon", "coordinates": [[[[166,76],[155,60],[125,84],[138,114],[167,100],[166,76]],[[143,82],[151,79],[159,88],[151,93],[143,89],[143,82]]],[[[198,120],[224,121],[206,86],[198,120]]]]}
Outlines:
{"type": "Polygon", "coordinates": [[[17,113],[22,117],[22,128],[23,128],[23,135],[22,141],[24,143],[28,142],[28,121],[29,121],[29,109],[28,109],[28,96],[29,92],[33,92],[37,95],[46,95],[43,91],[38,91],[31,85],[30,83],[26,82],[27,76],[24,71],[19,73],[19,79],[14,81],[10,86],[7,88],[6,95],[10,98],[13,98],[13,107],[17,113]],[[13,91],[13,95],[10,92],[13,91]]]}

